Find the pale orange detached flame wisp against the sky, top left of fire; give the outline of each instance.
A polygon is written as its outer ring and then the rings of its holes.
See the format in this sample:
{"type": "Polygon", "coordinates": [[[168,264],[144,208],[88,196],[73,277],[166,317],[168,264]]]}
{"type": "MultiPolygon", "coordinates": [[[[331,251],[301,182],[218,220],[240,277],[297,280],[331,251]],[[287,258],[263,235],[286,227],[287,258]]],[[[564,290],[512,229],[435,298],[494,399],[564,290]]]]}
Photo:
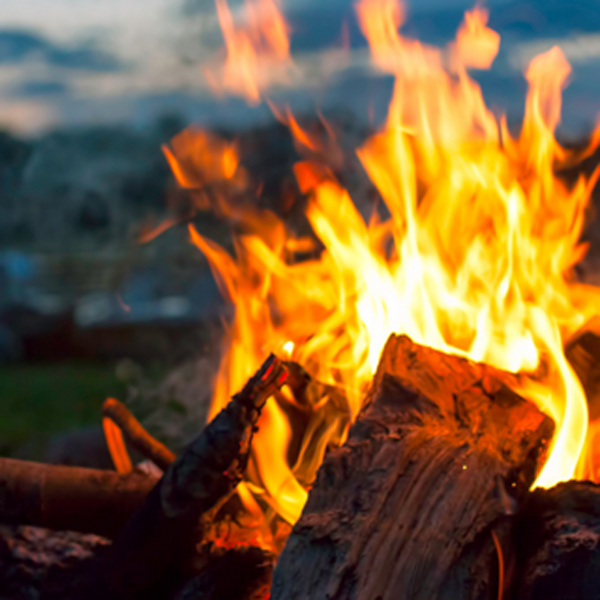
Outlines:
{"type": "Polygon", "coordinates": [[[222,77],[211,69],[204,73],[216,92],[241,94],[252,104],[261,99],[269,71],[291,66],[290,42],[278,0],[246,0],[247,25],[237,27],[226,0],[215,0],[225,38],[227,60],[222,77]]]}

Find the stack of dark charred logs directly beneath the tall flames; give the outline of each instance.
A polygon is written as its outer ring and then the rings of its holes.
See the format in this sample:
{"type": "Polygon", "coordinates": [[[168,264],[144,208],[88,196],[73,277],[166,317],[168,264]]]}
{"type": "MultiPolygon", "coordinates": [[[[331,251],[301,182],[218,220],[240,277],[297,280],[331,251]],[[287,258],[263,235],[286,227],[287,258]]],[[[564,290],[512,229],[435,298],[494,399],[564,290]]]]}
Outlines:
{"type": "MultiPolygon", "coordinates": [[[[598,487],[529,492],[550,419],[505,374],[404,336],[388,341],[282,554],[203,543],[286,373],[269,359],[138,502],[70,598],[600,598],[598,487]]],[[[0,490],[3,481],[0,468],[0,490]]]]}

